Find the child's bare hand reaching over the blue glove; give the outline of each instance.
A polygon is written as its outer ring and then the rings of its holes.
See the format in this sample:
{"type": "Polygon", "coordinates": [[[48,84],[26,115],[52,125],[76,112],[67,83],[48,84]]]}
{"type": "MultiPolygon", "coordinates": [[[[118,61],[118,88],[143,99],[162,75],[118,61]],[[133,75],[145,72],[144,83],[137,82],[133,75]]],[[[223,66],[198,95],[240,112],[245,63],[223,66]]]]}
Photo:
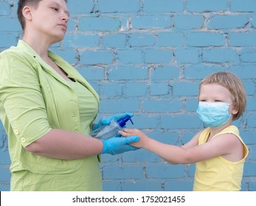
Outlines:
{"type": "Polygon", "coordinates": [[[139,129],[122,129],[122,131],[119,131],[119,133],[123,137],[129,137],[134,135],[139,136],[139,141],[131,143],[132,146],[136,146],[139,148],[144,147],[145,143],[147,143],[148,140],[148,136],[139,129]]]}

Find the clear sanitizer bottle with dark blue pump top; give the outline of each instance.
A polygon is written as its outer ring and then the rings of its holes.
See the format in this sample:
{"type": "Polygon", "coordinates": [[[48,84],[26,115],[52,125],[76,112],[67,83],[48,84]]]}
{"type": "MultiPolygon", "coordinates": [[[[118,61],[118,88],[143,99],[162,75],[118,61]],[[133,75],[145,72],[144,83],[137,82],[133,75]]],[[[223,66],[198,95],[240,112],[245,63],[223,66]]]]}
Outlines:
{"type": "MultiPolygon", "coordinates": [[[[125,118],[120,118],[118,121],[113,119],[111,121],[111,124],[104,125],[103,127],[100,127],[90,132],[90,136],[93,138],[99,138],[102,140],[113,138],[114,136],[118,135],[118,131],[122,130],[122,127],[124,127],[126,122],[129,120],[131,121],[130,116],[126,116],[125,118]]],[[[131,121],[131,124],[134,124],[133,121],[131,121]]]]}

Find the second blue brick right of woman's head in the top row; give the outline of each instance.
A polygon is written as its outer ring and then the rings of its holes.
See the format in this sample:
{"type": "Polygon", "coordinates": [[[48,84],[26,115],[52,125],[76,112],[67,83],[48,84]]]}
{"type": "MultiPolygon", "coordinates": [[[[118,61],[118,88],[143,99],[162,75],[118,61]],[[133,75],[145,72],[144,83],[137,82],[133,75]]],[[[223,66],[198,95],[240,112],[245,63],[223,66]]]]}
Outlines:
{"type": "Polygon", "coordinates": [[[136,13],[140,10],[139,0],[103,0],[98,1],[95,10],[100,13],[136,13]]]}

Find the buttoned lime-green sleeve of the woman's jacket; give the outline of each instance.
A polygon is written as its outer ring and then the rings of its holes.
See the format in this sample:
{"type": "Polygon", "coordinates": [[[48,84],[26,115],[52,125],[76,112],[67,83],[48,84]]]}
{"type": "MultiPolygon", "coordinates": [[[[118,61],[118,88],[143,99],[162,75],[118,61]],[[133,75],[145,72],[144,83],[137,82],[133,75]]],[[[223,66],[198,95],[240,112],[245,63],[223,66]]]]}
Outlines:
{"type": "MultiPolygon", "coordinates": [[[[32,58],[32,57],[31,57],[32,58]]],[[[50,131],[38,69],[24,54],[0,56],[1,118],[8,123],[7,135],[13,132],[22,146],[27,146],[50,131]]]]}

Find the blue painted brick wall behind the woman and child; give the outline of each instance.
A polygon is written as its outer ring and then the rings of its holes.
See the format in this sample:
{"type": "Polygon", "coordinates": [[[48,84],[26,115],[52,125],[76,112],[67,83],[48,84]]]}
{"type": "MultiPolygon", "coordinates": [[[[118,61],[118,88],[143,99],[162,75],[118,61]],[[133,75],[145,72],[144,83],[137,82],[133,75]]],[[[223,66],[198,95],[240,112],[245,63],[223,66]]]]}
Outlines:
{"type": "MultiPolygon", "coordinates": [[[[241,77],[248,104],[235,125],[250,151],[242,190],[256,191],[255,0],[69,0],[68,6],[69,30],[52,51],[100,94],[99,118],[132,112],[134,127],[180,146],[201,128],[195,113],[201,79],[215,71],[241,77]]],[[[16,10],[17,1],[0,0],[0,51],[21,38],[16,10]]],[[[0,126],[1,191],[10,190],[7,145],[0,126]]],[[[172,166],[140,149],[104,154],[100,170],[105,191],[191,191],[195,165],[172,166]]]]}

